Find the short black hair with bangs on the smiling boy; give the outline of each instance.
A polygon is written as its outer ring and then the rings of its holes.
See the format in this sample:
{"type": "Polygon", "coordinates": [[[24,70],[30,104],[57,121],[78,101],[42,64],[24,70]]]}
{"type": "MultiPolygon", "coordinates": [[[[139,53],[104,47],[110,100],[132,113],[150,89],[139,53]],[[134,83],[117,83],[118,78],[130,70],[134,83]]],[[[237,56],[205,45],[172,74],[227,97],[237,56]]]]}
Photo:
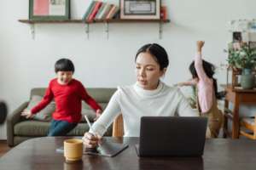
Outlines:
{"type": "Polygon", "coordinates": [[[74,72],[74,65],[70,59],[59,59],[55,63],[55,73],[58,71],[72,71],[74,72]]]}

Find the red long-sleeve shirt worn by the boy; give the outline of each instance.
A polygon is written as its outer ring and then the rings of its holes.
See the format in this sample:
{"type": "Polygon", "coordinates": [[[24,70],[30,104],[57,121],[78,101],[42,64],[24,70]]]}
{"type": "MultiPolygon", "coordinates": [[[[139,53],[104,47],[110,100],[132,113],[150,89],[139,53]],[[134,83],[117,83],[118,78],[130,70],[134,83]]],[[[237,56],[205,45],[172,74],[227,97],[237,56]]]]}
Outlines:
{"type": "Polygon", "coordinates": [[[81,82],[72,79],[67,85],[61,85],[55,78],[49,82],[44,98],[38,105],[32,108],[32,114],[36,114],[44,109],[52,99],[55,99],[56,105],[52,116],[57,121],[80,122],[82,100],[95,111],[98,109],[102,110],[101,106],[87,94],[81,82]]]}

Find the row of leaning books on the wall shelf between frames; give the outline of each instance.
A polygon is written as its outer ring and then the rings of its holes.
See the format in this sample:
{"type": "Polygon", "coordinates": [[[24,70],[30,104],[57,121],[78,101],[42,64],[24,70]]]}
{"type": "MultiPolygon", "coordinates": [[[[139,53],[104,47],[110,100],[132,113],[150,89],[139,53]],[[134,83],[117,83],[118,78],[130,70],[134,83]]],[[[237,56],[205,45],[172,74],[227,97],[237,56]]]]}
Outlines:
{"type": "Polygon", "coordinates": [[[101,1],[91,1],[82,20],[93,22],[94,20],[112,20],[119,18],[119,6],[101,1]]]}

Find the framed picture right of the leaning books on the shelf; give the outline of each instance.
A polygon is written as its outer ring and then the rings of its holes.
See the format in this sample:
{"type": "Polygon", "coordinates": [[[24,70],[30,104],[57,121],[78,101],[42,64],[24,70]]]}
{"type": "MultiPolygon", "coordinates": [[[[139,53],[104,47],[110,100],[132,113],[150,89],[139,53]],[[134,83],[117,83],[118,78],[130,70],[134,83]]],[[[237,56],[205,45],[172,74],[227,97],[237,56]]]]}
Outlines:
{"type": "Polygon", "coordinates": [[[120,19],[160,19],[160,0],[120,0],[120,19]]]}

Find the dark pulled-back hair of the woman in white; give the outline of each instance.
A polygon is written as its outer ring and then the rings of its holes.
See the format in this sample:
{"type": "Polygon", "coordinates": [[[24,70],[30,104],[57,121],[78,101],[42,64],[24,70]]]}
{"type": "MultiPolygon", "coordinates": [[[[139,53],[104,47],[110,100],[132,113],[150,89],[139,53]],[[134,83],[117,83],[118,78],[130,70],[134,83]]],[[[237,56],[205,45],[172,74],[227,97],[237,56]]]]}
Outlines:
{"type": "Polygon", "coordinates": [[[168,54],[166,53],[166,49],[161,47],[157,43],[148,43],[146,45],[143,45],[142,48],[139,48],[139,50],[137,50],[135,60],[137,59],[138,54],[141,53],[149,53],[153,55],[155,61],[160,65],[160,71],[162,71],[164,68],[167,68],[167,66],[169,65],[169,59],[168,54]]]}

